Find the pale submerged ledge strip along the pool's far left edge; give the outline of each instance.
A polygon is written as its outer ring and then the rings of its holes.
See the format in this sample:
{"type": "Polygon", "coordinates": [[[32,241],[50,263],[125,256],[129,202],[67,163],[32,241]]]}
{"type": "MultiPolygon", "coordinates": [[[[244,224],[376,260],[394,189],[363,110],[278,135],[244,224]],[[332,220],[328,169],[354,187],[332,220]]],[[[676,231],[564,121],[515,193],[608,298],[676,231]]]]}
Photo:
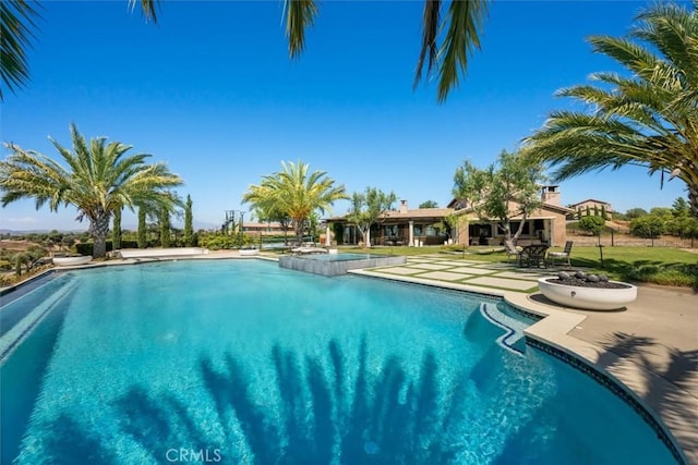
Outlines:
{"type": "MultiPolygon", "coordinates": [[[[0,338],[0,365],[4,363],[14,347],[16,347],[20,342],[22,342],[22,340],[24,340],[24,338],[28,335],[41,321],[41,319],[44,319],[44,317],[48,315],[58,303],[68,296],[76,285],[75,280],[68,279],[63,285],[52,292],[46,299],[41,301],[40,304],[28,310],[27,314],[12,327],[12,329],[2,334],[0,338]]],[[[13,305],[32,305],[31,301],[27,302],[28,296],[29,295],[23,296],[22,298],[8,304],[3,310],[7,310],[7,307],[13,305]]]]}

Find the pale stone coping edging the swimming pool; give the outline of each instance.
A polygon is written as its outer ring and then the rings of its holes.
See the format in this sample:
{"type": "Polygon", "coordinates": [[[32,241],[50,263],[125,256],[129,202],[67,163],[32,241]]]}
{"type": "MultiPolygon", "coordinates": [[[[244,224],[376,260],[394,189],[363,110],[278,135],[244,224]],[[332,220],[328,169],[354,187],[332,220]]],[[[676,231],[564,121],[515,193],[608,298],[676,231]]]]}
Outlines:
{"type": "MultiPolygon", "coordinates": [[[[253,259],[265,261],[277,261],[278,256],[266,256],[260,254],[256,256],[241,256],[236,252],[206,254],[206,255],[189,255],[180,257],[147,257],[147,258],[130,258],[130,259],[113,259],[100,262],[91,262],[87,265],[80,265],[73,267],[55,267],[48,268],[40,273],[32,276],[31,278],[14,284],[10,287],[2,287],[0,292],[2,295],[12,292],[13,290],[21,287],[27,283],[35,281],[44,277],[47,273],[64,272],[82,269],[94,269],[106,266],[124,266],[124,265],[139,265],[158,261],[178,261],[178,260],[217,260],[217,259],[253,259]],[[233,255],[234,254],[234,255],[233,255]]],[[[377,268],[376,268],[377,269],[377,268]]],[[[658,425],[661,428],[661,438],[665,443],[669,440],[670,451],[677,458],[679,463],[685,464],[698,464],[698,433],[696,432],[695,424],[686,418],[686,415],[681,415],[679,412],[666,412],[661,408],[660,399],[645,399],[641,396],[642,380],[650,379],[652,383],[661,387],[661,392],[664,396],[671,396],[673,400],[681,400],[681,412],[698,412],[698,399],[693,396],[687,391],[683,390],[673,382],[667,381],[663,377],[657,375],[653,371],[641,367],[631,360],[624,359],[616,354],[610,354],[605,352],[601,346],[592,344],[587,341],[582,341],[569,334],[575,328],[577,328],[588,317],[581,314],[574,314],[568,311],[565,307],[558,305],[546,305],[541,302],[533,301],[531,295],[520,292],[505,291],[498,289],[483,289],[481,286],[473,286],[462,283],[436,281],[424,278],[417,278],[410,276],[389,274],[372,271],[371,269],[354,269],[348,270],[347,273],[384,279],[388,281],[406,282],[412,284],[428,285],[431,287],[440,287],[452,291],[461,291],[469,294],[477,294],[485,298],[500,298],[507,304],[520,310],[540,316],[541,319],[531,325],[524,332],[528,339],[533,340],[544,346],[550,347],[547,351],[551,355],[556,356],[569,364],[569,360],[565,356],[571,356],[573,359],[579,360],[581,364],[591,367],[602,377],[610,379],[616,387],[623,389],[624,392],[629,394],[629,401],[631,407],[638,411],[637,406],[650,416],[649,421],[642,412],[638,412],[640,416],[645,418],[650,426],[658,425]],[[600,363],[601,355],[604,354],[605,363],[600,363]],[[677,456],[678,455],[678,456],[677,456]]],[[[574,309],[573,309],[574,310],[574,309]]],[[[527,342],[528,343],[528,342],[527,342]]],[[[530,344],[538,348],[535,343],[530,344]]],[[[571,364],[575,368],[585,371],[582,366],[571,364]]],[[[593,376],[592,376],[593,377],[593,376]]],[[[597,381],[599,379],[593,377],[597,381]]],[[[607,384],[605,384],[609,388],[607,384]]],[[[612,391],[614,391],[612,389],[612,391]]],[[[619,395],[618,392],[614,393],[619,395]]]]}

